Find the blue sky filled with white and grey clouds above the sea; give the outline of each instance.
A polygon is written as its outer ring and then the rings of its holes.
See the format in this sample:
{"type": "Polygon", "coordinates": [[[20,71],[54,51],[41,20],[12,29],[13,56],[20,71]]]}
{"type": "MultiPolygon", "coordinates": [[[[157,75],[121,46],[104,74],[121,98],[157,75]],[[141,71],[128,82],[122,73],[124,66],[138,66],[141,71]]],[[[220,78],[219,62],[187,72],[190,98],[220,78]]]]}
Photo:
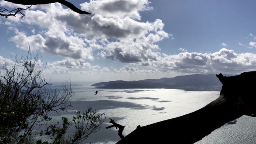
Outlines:
{"type": "MultiPolygon", "coordinates": [[[[144,80],[256,70],[255,0],[67,0],[0,17],[0,62],[30,47],[52,81],[144,80]]],[[[0,0],[0,7],[23,5],[0,0]]]]}

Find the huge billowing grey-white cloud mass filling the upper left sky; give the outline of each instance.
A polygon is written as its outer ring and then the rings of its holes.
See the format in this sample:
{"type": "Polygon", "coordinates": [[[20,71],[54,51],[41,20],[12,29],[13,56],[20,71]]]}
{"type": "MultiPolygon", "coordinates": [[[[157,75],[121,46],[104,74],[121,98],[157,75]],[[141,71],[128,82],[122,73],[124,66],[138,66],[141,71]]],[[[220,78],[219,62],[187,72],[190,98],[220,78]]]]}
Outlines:
{"type": "Polygon", "coordinates": [[[104,58],[148,65],[158,55],[155,43],[172,36],[164,32],[162,20],[138,21],[140,11],[152,9],[149,4],[148,0],[81,4],[82,9],[94,13],[91,16],[76,14],[58,3],[40,5],[26,11],[26,19],[19,22],[38,26],[41,31],[33,30],[28,35],[15,30],[16,36],[10,40],[19,48],[24,49],[29,43],[31,48],[65,58],[94,60],[94,51],[100,49],[104,58]]]}

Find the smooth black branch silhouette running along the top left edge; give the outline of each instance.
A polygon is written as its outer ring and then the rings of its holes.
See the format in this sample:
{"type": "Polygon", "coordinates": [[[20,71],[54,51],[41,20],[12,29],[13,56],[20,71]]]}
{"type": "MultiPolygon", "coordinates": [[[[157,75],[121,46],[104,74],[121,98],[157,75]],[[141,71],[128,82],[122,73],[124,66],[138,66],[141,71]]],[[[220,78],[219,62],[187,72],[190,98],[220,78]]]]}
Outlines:
{"type": "Polygon", "coordinates": [[[74,10],[74,12],[77,12],[78,14],[91,14],[89,12],[85,12],[83,10],[78,9],[74,4],[67,2],[66,0],[5,0],[7,2],[12,2],[14,4],[23,4],[23,5],[37,5],[37,4],[50,4],[58,2],[60,4],[63,4],[70,8],[71,10],[74,10]]]}

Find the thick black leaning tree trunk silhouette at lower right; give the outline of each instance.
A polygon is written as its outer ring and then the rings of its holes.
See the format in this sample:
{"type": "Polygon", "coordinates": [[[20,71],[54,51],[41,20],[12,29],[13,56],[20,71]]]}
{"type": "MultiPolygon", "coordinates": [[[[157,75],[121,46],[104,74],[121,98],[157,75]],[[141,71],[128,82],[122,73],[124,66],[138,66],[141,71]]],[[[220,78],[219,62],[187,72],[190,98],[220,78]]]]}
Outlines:
{"type": "Polygon", "coordinates": [[[138,126],[116,144],[193,144],[240,116],[255,117],[256,71],[230,77],[222,74],[216,76],[223,85],[219,98],[190,114],[138,126]]]}

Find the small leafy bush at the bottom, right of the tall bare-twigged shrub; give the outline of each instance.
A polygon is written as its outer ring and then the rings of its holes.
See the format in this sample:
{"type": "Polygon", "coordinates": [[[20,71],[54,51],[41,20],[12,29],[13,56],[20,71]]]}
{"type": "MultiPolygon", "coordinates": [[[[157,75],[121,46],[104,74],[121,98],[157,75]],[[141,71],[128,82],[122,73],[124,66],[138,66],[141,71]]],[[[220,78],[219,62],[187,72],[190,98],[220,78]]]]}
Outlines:
{"type": "Polygon", "coordinates": [[[59,122],[51,124],[46,130],[40,132],[40,136],[50,136],[50,139],[54,140],[52,144],[79,144],[86,140],[90,134],[100,130],[105,119],[104,113],[99,114],[88,107],[82,114],[78,111],[76,116],[73,116],[72,121],[62,117],[62,126],[59,122]],[[73,128],[73,135],[65,136],[69,128],[73,128]]]}

